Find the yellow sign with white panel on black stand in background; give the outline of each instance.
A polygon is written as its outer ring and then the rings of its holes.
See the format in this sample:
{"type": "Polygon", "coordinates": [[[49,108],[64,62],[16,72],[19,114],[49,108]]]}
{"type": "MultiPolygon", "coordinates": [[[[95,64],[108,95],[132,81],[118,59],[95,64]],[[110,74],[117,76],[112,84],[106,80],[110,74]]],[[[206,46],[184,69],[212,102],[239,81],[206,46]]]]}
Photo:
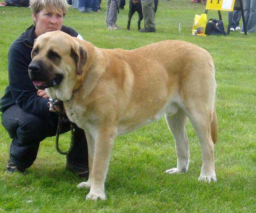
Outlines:
{"type": "Polygon", "coordinates": [[[205,9],[233,11],[235,0],[207,0],[205,9]]]}

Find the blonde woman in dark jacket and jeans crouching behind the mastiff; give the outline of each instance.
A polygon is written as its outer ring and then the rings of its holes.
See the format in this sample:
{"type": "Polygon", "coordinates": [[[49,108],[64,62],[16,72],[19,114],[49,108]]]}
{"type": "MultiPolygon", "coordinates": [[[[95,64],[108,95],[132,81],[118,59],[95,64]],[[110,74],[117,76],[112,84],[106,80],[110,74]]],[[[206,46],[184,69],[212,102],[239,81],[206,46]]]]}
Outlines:
{"type": "MultiPolygon", "coordinates": [[[[9,85],[0,99],[2,125],[12,138],[7,170],[25,172],[37,157],[39,143],[56,133],[58,115],[49,112],[45,90],[37,90],[28,76],[34,39],[49,31],[81,37],[63,26],[66,0],[30,0],[34,25],[27,28],[11,45],[8,53],[9,85]]],[[[64,124],[63,132],[70,129],[64,124]]],[[[67,156],[66,168],[79,176],[88,175],[87,144],[82,129],[74,131],[74,149],[67,156]]]]}

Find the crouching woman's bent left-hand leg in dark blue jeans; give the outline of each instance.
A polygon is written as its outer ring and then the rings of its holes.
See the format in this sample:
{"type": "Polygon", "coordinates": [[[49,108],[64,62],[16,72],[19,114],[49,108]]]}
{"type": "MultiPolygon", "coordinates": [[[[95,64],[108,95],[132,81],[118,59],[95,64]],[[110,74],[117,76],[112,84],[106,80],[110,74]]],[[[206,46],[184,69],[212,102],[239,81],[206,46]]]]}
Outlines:
{"type": "Polygon", "coordinates": [[[18,105],[2,114],[2,125],[12,138],[10,159],[22,168],[30,167],[37,157],[39,143],[55,133],[54,121],[21,110],[18,105]]]}

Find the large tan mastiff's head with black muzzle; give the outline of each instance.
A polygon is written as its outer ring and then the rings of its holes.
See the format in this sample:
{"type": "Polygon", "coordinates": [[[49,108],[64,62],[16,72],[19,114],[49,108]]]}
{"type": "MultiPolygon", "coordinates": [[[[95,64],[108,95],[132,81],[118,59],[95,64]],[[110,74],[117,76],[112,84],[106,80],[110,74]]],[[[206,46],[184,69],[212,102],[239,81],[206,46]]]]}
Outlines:
{"type": "Polygon", "coordinates": [[[83,72],[88,55],[85,48],[70,35],[61,31],[40,35],[31,52],[28,74],[37,89],[46,89],[52,98],[71,98],[77,76],[83,72]]]}

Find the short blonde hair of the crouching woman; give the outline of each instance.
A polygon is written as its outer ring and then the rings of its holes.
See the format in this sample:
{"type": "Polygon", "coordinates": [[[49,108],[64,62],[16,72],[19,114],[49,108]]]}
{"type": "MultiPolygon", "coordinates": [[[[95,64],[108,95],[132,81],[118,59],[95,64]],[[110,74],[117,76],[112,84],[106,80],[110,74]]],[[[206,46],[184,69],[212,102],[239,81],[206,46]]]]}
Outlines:
{"type": "Polygon", "coordinates": [[[40,10],[50,9],[51,11],[62,11],[65,16],[68,10],[66,0],[30,0],[30,8],[33,14],[37,14],[40,10]]]}

